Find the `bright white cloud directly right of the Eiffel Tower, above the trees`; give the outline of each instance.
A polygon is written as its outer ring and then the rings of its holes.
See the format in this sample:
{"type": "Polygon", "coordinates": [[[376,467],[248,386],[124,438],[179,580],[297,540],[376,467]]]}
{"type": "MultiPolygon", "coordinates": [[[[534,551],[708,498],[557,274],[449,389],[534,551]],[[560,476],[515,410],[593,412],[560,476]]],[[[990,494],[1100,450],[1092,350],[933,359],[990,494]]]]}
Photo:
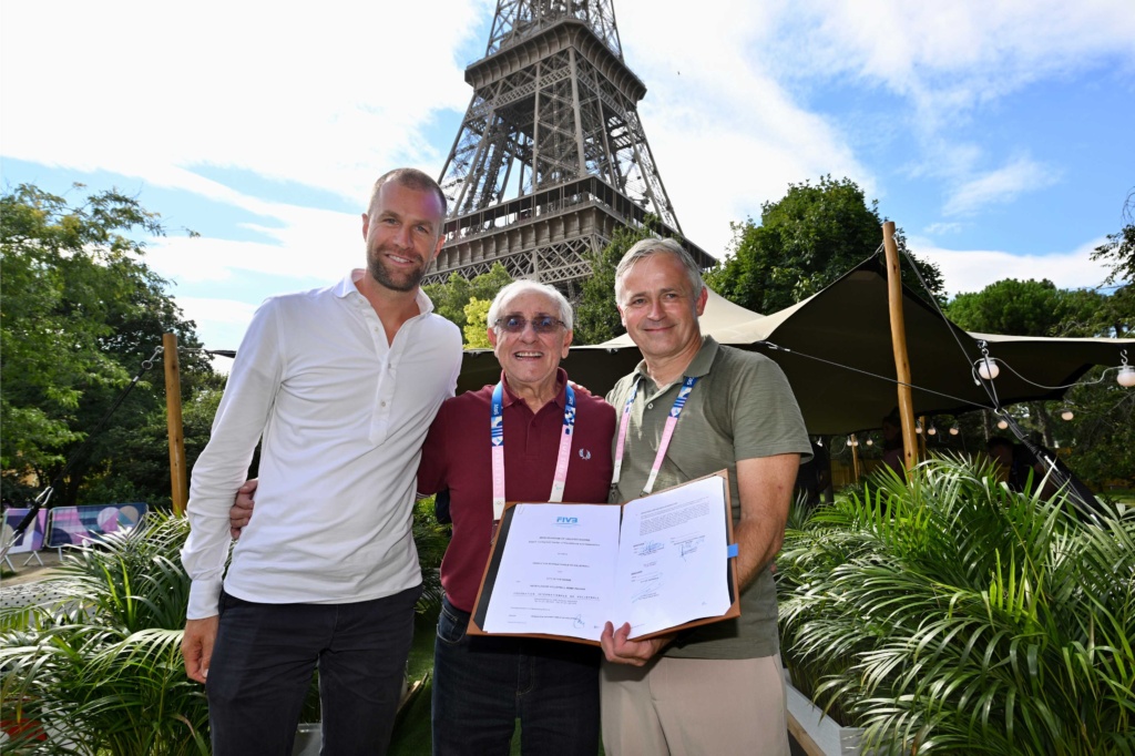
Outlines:
{"type": "Polygon", "coordinates": [[[722,1],[713,12],[649,0],[617,5],[623,54],[648,86],[642,127],[692,242],[723,257],[730,222],[758,218],[760,204],[783,196],[790,183],[830,173],[874,192],[839,127],[794,102],[754,54],[773,28],[764,3],[722,1]]]}

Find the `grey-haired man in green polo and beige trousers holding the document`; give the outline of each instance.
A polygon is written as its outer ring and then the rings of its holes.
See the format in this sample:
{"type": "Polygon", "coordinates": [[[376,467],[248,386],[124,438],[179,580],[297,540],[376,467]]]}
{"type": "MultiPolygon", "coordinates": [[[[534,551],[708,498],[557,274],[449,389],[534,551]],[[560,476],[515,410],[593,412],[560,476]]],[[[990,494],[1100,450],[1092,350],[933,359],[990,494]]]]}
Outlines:
{"type": "Polygon", "coordinates": [[[644,360],[607,395],[620,414],[611,501],[729,469],[741,616],[646,641],[607,623],[600,697],[611,756],[789,754],[771,566],[812,445],[780,368],[701,335],[707,296],[697,263],[672,240],[644,240],[619,263],[619,312],[644,360]]]}

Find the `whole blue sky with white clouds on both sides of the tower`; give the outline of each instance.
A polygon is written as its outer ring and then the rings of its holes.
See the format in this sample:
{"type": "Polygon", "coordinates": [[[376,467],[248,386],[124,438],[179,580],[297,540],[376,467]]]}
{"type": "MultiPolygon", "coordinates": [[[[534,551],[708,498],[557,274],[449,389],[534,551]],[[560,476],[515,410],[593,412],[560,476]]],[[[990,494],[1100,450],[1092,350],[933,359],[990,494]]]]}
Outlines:
{"type": "MultiPolygon", "coordinates": [[[[1101,284],[1088,254],[1135,188],[1130,0],[690,7],[615,0],[647,138],[706,251],[831,174],[877,199],[950,293],[1101,284]]],[[[5,3],[3,184],[137,194],[171,232],[150,264],[208,347],[235,348],[264,296],[361,264],[377,175],[440,171],[494,8],[5,3]]]]}

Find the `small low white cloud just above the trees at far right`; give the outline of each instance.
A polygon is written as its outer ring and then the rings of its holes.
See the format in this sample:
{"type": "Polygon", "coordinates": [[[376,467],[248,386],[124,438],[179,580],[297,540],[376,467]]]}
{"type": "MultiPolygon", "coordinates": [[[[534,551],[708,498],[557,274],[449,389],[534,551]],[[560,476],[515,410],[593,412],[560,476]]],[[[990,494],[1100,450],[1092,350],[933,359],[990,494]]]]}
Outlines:
{"type": "Polygon", "coordinates": [[[1006,278],[1048,278],[1060,288],[1095,288],[1103,283],[1108,269],[1090,257],[1103,242],[1093,240],[1075,250],[1051,254],[1009,254],[998,250],[949,250],[915,236],[907,240],[919,258],[941,269],[950,296],[980,292],[1006,278]]]}

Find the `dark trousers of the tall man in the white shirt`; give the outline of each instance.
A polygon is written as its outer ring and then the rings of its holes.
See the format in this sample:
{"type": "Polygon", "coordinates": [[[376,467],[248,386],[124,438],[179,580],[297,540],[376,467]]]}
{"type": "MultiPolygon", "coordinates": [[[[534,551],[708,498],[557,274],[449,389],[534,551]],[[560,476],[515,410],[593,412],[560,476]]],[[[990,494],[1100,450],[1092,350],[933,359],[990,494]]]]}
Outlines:
{"type": "Polygon", "coordinates": [[[385,754],[413,640],[417,586],[356,604],[221,593],[205,692],[215,756],[289,756],[319,666],[322,756],[385,754]]]}

